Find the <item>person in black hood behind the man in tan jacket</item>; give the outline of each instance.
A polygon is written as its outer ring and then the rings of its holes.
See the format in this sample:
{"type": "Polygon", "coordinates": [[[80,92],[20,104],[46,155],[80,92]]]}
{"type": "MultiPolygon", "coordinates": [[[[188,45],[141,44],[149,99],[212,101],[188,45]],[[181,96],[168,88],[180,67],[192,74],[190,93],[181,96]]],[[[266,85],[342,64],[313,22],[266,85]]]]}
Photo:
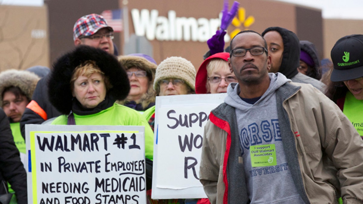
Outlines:
{"type": "Polygon", "coordinates": [[[295,33],[281,27],[269,27],[262,32],[271,56],[270,72],[280,72],[288,79],[298,83],[310,83],[324,92],[326,86],[317,79],[299,73],[300,45],[295,33]]]}

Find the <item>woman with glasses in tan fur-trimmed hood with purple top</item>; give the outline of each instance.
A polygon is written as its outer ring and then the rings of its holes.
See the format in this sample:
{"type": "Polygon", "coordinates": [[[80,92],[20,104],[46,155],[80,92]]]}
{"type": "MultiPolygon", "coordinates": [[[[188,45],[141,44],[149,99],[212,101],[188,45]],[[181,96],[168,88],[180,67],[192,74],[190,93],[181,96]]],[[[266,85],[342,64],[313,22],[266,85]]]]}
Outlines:
{"type": "Polygon", "coordinates": [[[155,60],[146,54],[136,53],[119,56],[118,61],[125,68],[131,87],[127,98],[118,103],[137,111],[154,106],[155,91],[152,85],[157,66],[155,60]]]}

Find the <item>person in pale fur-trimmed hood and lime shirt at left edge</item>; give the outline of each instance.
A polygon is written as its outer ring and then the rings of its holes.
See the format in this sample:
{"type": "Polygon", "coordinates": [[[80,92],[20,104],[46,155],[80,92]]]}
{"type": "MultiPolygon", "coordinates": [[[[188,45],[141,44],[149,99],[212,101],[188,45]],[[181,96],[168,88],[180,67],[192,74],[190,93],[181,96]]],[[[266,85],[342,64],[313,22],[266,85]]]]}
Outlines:
{"type": "MultiPolygon", "coordinates": [[[[23,164],[26,157],[26,146],[25,140],[21,136],[19,121],[26,105],[32,98],[39,79],[36,74],[25,70],[11,69],[0,73],[0,105],[9,119],[14,142],[20,152],[20,159],[23,164]]],[[[9,188],[9,192],[14,193],[11,188],[9,188]]],[[[15,199],[14,196],[13,199],[15,199]]]]}

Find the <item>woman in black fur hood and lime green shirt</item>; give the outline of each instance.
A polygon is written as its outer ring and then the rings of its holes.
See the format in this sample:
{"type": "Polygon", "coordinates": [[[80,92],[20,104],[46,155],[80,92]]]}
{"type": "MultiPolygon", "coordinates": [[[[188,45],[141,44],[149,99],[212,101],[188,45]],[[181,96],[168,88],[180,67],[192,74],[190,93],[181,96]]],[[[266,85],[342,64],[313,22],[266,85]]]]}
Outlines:
{"type": "Polygon", "coordinates": [[[115,103],[130,91],[125,70],[115,56],[77,46],[60,57],[49,80],[49,101],[63,115],[53,125],[145,126],[145,156],[152,160],[154,134],[137,111],[115,103]]]}

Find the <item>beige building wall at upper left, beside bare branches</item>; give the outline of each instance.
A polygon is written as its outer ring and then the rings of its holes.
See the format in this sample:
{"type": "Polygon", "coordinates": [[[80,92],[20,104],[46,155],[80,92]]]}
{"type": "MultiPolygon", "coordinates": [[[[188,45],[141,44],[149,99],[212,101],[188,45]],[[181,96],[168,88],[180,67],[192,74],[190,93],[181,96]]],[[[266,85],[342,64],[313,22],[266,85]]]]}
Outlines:
{"type": "Polygon", "coordinates": [[[49,66],[48,11],[0,6],[0,71],[49,66]]]}

